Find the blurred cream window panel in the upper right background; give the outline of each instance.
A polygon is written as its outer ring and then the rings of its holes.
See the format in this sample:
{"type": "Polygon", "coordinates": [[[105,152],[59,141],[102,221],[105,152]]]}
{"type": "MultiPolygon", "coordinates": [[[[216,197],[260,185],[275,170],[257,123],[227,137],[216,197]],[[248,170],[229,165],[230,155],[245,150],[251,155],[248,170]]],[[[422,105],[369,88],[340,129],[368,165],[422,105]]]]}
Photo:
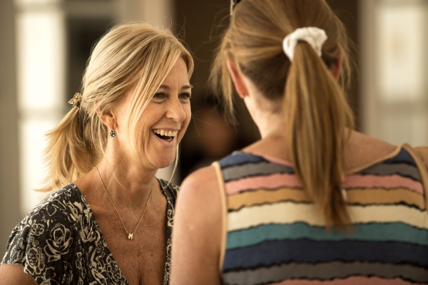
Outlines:
{"type": "Polygon", "coordinates": [[[428,145],[428,1],[360,0],[362,130],[428,145]]]}

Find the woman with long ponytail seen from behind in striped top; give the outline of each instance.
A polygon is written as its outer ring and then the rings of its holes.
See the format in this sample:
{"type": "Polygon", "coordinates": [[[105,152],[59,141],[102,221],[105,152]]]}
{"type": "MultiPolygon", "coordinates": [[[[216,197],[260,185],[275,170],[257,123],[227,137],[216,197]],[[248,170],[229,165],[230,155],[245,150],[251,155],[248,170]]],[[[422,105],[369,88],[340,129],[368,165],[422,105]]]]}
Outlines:
{"type": "Polygon", "coordinates": [[[234,5],[211,81],[261,140],[183,182],[172,285],[427,284],[426,168],[353,130],[349,76],[324,0],[234,5]]]}

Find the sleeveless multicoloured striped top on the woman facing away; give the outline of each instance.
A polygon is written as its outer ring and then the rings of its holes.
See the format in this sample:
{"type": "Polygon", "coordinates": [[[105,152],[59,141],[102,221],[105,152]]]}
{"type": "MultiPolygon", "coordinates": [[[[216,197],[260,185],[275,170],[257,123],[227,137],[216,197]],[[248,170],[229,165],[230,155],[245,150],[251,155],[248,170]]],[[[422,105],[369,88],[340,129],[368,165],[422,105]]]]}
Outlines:
{"type": "Polygon", "coordinates": [[[238,151],[215,165],[225,284],[428,284],[424,187],[403,147],[346,176],[351,231],[325,229],[288,162],[238,151]]]}

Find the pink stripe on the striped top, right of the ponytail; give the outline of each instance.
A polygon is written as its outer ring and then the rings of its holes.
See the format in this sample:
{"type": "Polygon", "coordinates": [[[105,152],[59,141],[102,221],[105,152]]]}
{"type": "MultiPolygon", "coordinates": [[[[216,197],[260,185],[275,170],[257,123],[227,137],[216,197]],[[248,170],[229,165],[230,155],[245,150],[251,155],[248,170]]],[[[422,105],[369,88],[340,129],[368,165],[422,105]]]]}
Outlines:
{"type": "Polygon", "coordinates": [[[406,187],[419,194],[424,194],[424,188],[420,182],[400,175],[376,176],[376,175],[349,175],[345,180],[345,187],[362,188],[362,187],[384,187],[397,188],[406,187]]]}

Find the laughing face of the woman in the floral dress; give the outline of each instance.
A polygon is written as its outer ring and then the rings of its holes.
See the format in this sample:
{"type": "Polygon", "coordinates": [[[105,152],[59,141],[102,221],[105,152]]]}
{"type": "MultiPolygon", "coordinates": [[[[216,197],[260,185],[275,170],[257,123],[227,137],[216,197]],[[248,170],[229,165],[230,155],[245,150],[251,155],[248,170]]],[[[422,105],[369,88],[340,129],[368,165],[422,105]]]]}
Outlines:
{"type": "MultiPolygon", "coordinates": [[[[178,58],[136,125],[137,155],[144,168],[158,169],[173,163],[175,149],[190,122],[190,95],[188,70],[183,58],[178,58]]],[[[116,108],[118,130],[126,130],[131,96],[126,97],[116,108]]],[[[129,143],[121,145],[131,150],[129,143]]]]}

